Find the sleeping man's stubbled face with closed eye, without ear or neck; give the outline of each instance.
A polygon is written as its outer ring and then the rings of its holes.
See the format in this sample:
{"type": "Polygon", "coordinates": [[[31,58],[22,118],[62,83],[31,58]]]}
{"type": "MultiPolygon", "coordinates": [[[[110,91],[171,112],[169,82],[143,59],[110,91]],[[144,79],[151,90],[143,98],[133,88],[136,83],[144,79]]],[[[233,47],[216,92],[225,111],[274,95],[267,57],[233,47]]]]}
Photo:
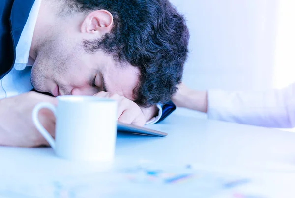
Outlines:
{"type": "Polygon", "coordinates": [[[41,92],[58,95],[93,95],[107,91],[134,100],[139,70],[130,64],[118,65],[102,51],[88,53],[69,33],[56,34],[40,42],[31,81],[41,92]]]}

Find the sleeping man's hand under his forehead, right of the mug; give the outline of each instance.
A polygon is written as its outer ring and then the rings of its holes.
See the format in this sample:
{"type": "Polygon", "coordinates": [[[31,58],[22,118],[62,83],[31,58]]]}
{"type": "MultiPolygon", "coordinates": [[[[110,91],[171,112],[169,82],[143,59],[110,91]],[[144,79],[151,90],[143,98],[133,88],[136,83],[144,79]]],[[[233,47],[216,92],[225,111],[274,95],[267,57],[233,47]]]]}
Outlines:
{"type": "Polygon", "coordinates": [[[135,102],[118,94],[98,92],[94,96],[116,100],[118,102],[117,118],[122,123],[143,126],[154,111],[154,107],[140,108],[135,102]]]}

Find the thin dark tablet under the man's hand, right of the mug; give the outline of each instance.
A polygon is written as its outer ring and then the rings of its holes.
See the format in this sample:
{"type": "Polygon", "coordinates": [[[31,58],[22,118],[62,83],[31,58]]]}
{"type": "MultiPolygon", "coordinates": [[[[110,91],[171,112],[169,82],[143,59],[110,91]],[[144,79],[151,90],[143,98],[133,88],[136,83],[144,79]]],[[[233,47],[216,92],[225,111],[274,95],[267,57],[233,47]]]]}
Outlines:
{"type": "Polygon", "coordinates": [[[161,131],[156,131],[153,129],[140,127],[140,126],[135,126],[132,124],[124,124],[121,122],[118,122],[117,130],[120,132],[136,133],[141,135],[151,135],[151,136],[160,136],[160,137],[167,136],[167,133],[164,133],[161,131]]]}

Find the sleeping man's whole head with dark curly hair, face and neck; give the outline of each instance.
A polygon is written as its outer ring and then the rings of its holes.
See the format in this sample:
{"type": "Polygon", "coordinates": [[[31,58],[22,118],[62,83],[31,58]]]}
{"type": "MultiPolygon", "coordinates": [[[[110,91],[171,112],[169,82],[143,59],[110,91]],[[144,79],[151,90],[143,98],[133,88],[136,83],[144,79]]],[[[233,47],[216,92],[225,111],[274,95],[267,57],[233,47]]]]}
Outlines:
{"type": "Polygon", "coordinates": [[[106,89],[143,106],[166,102],[181,81],[188,39],[168,0],[43,0],[32,84],[54,95],[106,89]]]}

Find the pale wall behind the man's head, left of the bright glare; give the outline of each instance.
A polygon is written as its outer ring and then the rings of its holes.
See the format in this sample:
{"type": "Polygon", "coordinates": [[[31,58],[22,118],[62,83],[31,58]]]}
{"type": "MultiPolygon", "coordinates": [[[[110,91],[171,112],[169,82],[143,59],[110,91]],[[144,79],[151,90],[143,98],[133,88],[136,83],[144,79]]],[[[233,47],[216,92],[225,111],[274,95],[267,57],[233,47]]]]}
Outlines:
{"type": "Polygon", "coordinates": [[[277,0],[171,0],[187,18],[192,88],[272,87],[277,0]]]}

